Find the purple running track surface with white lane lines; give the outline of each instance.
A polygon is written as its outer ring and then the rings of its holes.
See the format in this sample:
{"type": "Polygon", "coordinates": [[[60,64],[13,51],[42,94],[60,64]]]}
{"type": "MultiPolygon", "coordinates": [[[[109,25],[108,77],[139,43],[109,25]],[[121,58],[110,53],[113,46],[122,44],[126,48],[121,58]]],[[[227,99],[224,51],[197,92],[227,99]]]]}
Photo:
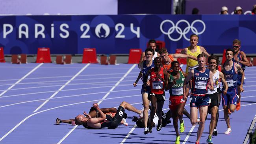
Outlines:
{"type": "MultiPolygon", "coordinates": [[[[182,68],[186,68],[186,65],[182,68]]],[[[85,129],[83,126],[74,127],[63,123],[55,125],[57,117],[70,119],[83,111],[88,112],[93,102],[100,102],[99,106],[104,108],[118,107],[122,101],[126,101],[141,109],[142,82],[137,87],[132,85],[139,73],[137,65],[0,63],[0,69],[0,143],[170,144],[176,139],[173,123],[161,131],[154,128],[151,134],[144,135],[144,129],[135,127],[132,122],[132,116],[137,114],[127,110],[129,125],[120,125],[117,129],[85,129]]],[[[245,70],[242,107],[230,115],[232,133],[229,135],[224,135],[227,127],[220,105],[219,134],[212,139],[215,144],[243,142],[256,114],[255,72],[255,66],[245,70]]],[[[165,113],[169,110],[169,92],[166,95],[167,101],[163,107],[165,113]]],[[[186,109],[189,111],[188,104],[186,109]]],[[[180,143],[195,143],[198,126],[193,129],[186,116],[184,124],[186,129],[180,133],[180,143]]],[[[200,144],[206,143],[209,124],[210,115],[200,144]]]]}

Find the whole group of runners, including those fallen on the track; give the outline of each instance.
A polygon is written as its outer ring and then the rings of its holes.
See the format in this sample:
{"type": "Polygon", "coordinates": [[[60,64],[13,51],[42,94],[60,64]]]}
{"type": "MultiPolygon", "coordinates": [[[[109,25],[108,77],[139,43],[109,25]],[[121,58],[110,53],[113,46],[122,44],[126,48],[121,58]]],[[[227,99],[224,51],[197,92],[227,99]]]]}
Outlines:
{"type": "Polygon", "coordinates": [[[243,92],[245,66],[250,66],[244,52],[240,50],[241,41],[233,41],[233,49],[226,50],[226,61],[222,66],[219,57],[209,55],[204,47],[198,46],[198,35],[190,36],[190,46],[184,48],[181,54],[169,54],[166,48],[156,50],[156,41],[149,40],[148,48],[141,54],[141,69],[134,82],[137,86],[142,79],[141,88],[143,111],[136,109],[127,102],[122,102],[118,109],[100,109],[97,103],[93,104],[89,114],[84,112],[75,119],[56,119],[56,124],[61,122],[83,125],[86,128],[99,129],[108,127],[115,129],[119,124],[126,123],[127,114],[124,109],[139,114],[140,118],[134,116],[133,122],[138,127],[144,127],[144,134],[152,133],[152,127],[160,131],[162,127],[173,119],[176,132],[175,144],[180,144],[180,133],[184,132],[183,114],[191,121],[192,125],[199,124],[197,130],[196,144],[199,144],[204,131],[207,113],[211,114],[209,136],[206,142],[213,144],[212,135],[217,136],[217,122],[219,119],[219,105],[222,99],[224,119],[227,130],[224,134],[231,133],[229,114],[239,110],[241,92],[243,92]],[[177,58],[187,58],[187,67],[184,72],[177,58]],[[207,65],[208,64],[208,65],[207,65]],[[221,87],[222,83],[222,87],[221,87]],[[165,102],[165,91],[169,90],[169,108],[164,114],[162,111],[165,102]],[[222,95],[222,96],[221,96],[222,95]],[[188,97],[190,97],[188,99],[188,97]],[[189,100],[190,114],[184,108],[189,100]],[[151,103],[151,105],[150,105],[151,103]],[[150,113],[148,111],[150,109],[150,113]],[[200,120],[198,120],[198,109],[200,120]],[[178,120],[180,129],[178,131],[178,120]]]}

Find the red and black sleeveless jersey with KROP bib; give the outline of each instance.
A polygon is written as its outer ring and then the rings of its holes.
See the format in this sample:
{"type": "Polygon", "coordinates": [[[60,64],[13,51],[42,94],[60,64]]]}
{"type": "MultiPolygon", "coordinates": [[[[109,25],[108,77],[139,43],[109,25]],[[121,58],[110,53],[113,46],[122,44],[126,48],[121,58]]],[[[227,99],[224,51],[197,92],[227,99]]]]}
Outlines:
{"type": "MultiPolygon", "coordinates": [[[[163,75],[163,67],[161,67],[161,70],[159,72],[161,78],[164,79],[163,75]]],[[[163,94],[164,93],[164,83],[161,79],[156,77],[156,72],[154,72],[154,68],[151,69],[151,75],[150,75],[150,87],[151,87],[151,92],[154,94],[163,94]]]]}

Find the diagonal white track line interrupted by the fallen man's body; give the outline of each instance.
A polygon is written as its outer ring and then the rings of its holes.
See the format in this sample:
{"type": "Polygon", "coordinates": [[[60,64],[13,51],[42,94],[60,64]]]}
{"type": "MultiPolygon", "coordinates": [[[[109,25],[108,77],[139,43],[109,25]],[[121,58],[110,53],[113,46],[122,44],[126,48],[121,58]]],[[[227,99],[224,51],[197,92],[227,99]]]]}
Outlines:
{"type": "MultiPolygon", "coordinates": [[[[115,86],[112,87],[112,88],[109,90],[109,92],[108,92],[107,94],[105,94],[105,96],[102,98],[103,100],[106,99],[106,97],[110,94],[110,92],[112,92],[112,91],[117,87],[117,85],[119,85],[119,83],[134,69],[135,66],[136,66],[136,64],[134,64],[134,65],[126,72],[126,74],[124,74],[124,76],[123,76],[119,81],[117,81],[117,83],[115,84],[115,86]]],[[[100,102],[98,102],[98,105],[99,105],[100,103],[102,103],[103,100],[100,100],[100,102]]],[[[74,127],[69,131],[69,133],[67,133],[57,144],[61,144],[61,142],[63,142],[63,140],[65,140],[65,139],[70,135],[70,133],[72,133],[72,131],[74,131],[75,128],[76,128],[76,127],[74,126],[74,127]]]]}

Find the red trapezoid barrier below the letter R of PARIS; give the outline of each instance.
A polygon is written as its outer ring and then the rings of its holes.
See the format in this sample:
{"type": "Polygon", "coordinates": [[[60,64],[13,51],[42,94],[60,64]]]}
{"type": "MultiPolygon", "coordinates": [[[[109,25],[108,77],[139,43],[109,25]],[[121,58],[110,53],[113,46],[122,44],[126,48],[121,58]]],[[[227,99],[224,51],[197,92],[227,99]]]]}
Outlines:
{"type": "Polygon", "coordinates": [[[37,49],[37,61],[36,63],[52,63],[50,48],[38,48],[37,49]]]}

